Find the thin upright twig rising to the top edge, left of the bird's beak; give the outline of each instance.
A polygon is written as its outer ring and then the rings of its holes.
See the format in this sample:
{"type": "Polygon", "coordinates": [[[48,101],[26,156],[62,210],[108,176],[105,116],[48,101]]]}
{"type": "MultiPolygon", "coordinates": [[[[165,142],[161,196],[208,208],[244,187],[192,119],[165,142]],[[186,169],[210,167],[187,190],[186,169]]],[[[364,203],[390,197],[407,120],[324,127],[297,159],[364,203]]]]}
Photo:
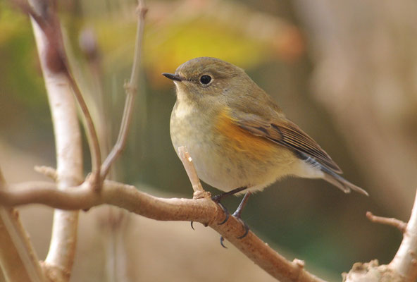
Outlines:
{"type": "Polygon", "coordinates": [[[125,83],[126,101],[125,109],[123,110],[123,117],[120,123],[120,130],[118,139],[111,149],[110,154],[104,160],[101,166],[100,176],[101,179],[106,178],[107,173],[114,161],[119,157],[126,145],[127,134],[129,133],[130,121],[132,120],[133,106],[135,104],[135,97],[137,92],[137,85],[139,80],[139,72],[141,66],[141,55],[142,55],[142,42],[144,32],[144,20],[147,13],[147,8],[144,6],[144,1],[138,1],[137,6],[137,33],[136,33],[136,44],[135,44],[135,55],[133,59],[132,74],[130,75],[130,81],[125,83]]]}

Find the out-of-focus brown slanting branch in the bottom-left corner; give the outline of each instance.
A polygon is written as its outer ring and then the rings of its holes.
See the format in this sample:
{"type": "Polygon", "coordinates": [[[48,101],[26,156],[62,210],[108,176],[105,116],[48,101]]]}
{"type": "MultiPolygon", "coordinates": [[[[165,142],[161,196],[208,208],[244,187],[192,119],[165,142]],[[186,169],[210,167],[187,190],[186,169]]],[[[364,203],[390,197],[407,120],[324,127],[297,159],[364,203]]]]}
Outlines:
{"type": "MultiPolygon", "coordinates": [[[[5,189],[5,180],[0,171],[0,189],[5,189]]],[[[6,281],[44,281],[39,260],[18,211],[0,207],[0,266],[6,281]]]]}

